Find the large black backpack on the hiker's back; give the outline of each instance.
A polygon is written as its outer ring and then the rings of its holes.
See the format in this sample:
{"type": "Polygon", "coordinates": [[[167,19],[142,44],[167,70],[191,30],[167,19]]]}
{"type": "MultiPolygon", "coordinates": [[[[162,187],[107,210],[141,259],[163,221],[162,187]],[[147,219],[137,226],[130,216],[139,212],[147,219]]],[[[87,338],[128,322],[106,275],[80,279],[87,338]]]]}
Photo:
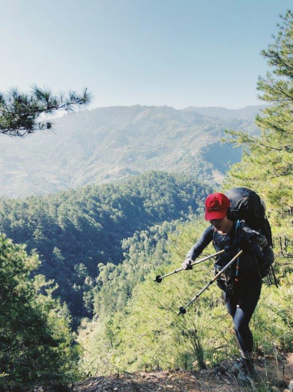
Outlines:
{"type": "Polygon", "coordinates": [[[260,196],[248,188],[233,188],[225,195],[230,201],[232,219],[245,221],[251,229],[263,234],[272,246],[270,223],[260,196]]]}

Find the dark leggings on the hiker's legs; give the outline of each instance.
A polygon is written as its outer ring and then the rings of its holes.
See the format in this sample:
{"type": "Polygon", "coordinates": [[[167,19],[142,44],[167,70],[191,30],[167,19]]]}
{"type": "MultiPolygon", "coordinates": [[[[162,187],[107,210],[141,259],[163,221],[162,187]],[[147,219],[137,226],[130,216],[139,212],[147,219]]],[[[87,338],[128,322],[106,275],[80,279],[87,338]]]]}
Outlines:
{"type": "Polygon", "coordinates": [[[242,353],[247,356],[252,352],[253,338],[249,321],[260,297],[262,281],[243,285],[238,293],[231,297],[226,295],[226,306],[232,316],[234,328],[242,353]]]}

